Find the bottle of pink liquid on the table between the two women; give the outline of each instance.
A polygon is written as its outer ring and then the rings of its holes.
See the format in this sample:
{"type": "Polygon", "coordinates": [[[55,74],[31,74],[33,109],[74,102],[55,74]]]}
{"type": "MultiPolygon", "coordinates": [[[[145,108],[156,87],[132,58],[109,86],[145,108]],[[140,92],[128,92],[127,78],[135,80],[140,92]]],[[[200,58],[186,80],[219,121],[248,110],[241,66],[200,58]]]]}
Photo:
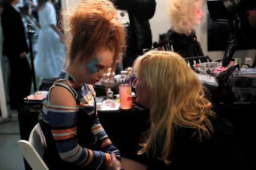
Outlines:
{"type": "Polygon", "coordinates": [[[119,79],[120,108],[131,109],[133,107],[133,98],[131,97],[131,78],[128,71],[121,71],[119,79]]]}

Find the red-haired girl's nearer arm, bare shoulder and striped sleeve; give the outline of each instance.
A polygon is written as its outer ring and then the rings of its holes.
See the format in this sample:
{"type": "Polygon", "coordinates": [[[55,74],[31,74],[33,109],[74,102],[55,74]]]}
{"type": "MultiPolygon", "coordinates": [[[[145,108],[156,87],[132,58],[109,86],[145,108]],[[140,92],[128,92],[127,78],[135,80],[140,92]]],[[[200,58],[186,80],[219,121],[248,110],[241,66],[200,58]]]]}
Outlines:
{"type": "Polygon", "coordinates": [[[109,154],[81,147],[77,139],[77,113],[79,108],[72,94],[64,87],[54,87],[50,95],[49,126],[60,158],[66,162],[92,169],[111,163],[109,154]],[[60,97],[61,96],[61,97],[60,97]]]}

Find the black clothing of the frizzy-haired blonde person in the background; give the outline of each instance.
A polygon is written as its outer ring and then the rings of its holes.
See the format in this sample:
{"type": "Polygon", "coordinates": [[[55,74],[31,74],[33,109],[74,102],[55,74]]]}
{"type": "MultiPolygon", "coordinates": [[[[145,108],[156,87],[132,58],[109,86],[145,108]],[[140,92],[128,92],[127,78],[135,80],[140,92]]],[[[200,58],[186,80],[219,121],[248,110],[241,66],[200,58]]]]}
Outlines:
{"type": "Polygon", "coordinates": [[[179,53],[183,58],[204,56],[195,31],[192,31],[191,35],[187,36],[169,29],[167,33],[159,36],[159,44],[161,44],[160,41],[168,42],[170,40],[173,41],[174,52],[179,53]]]}

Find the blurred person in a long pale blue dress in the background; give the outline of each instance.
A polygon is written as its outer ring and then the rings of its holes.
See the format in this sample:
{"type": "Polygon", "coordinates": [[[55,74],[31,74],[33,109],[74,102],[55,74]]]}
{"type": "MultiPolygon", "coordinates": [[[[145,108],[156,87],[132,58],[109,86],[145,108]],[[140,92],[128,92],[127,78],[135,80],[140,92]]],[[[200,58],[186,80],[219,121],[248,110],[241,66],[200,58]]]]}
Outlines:
{"type": "Polygon", "coordinates": [[[35,73],[40,78],[53,78],[63,69],[64,36],[57,28],[56,11],[51,0],[39,0],[37,8],[41,29],[36,44],[35,73]]]}

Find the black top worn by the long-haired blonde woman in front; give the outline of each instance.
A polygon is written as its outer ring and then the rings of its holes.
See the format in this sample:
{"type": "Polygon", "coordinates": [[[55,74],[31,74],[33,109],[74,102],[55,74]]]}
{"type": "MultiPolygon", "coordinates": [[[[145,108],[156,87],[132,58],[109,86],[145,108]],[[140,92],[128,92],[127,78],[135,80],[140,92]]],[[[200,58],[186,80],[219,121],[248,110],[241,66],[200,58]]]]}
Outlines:
{"type": "Polygon", "coordinates": [[[232,124],[224,118],[214,118],[211,122],[214,133],[201,142],[197,133],[193,136],[195,130],[179,126],[174,132],[170,165],[155,156],[148,159],[147,169],[248,169],[232,124]]]}

